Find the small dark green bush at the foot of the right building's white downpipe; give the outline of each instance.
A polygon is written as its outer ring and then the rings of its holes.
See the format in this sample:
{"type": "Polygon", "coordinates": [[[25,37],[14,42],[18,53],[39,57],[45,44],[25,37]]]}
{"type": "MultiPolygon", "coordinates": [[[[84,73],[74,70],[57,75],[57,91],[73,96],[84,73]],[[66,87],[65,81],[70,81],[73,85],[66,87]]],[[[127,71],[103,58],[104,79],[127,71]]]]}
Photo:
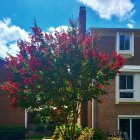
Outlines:
{"type": "Polygon", "coordinates": [[[107,133],[101,129],[95,129],[93,134],[93,140],[106,140],[107,133]]]}

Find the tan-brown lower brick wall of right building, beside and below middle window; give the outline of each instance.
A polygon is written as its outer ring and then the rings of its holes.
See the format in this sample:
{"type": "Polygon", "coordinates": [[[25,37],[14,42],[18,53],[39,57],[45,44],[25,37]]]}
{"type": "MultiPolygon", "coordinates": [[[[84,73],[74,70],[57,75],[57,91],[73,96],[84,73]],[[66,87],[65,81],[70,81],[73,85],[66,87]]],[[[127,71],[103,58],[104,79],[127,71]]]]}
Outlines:
{"type": "MultiPolygon", "coordinates": [[[[95,115],[95,124],[110,133],[117,133],[118,115],[140,115],[140,104],[115,104],[115,81],[111,82],[108,95],[101,97],[103,103],[98,103],[98,118],[95,115]]],[[[94,113],[97,107],[95,103],[94,113]]]]}

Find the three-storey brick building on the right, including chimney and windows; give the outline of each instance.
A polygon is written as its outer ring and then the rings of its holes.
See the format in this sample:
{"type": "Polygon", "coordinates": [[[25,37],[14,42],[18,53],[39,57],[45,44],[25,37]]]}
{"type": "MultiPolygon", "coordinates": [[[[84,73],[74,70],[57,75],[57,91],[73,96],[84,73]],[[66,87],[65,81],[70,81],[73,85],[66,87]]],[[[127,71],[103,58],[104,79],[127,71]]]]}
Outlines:
{"type": "MultiPolygon", "coordinates": [[[[80,13],[85,7],[80,8],[80,13]]],[[[81,12],[82,11],[82,12],[81,12]]],[[[86,29],[86,12],[79,14],[80,26],[86,29]],[[81,23],[84,22],[84,23],[81,23]]],[[[83,29],[84,30],[84,29],[83,29]]],[[[92,100],[87,105],[84,122],[111,134],[127,132],[130,140],[140,139],[140,29],[90,28],[87,34],[101,35],[100,49],[106,53],[116,50],[126,58],[122,74],[111,81],[103,103],[92,100]]],[[[84,108],[85,110],[85,108],[84,108]]]]}

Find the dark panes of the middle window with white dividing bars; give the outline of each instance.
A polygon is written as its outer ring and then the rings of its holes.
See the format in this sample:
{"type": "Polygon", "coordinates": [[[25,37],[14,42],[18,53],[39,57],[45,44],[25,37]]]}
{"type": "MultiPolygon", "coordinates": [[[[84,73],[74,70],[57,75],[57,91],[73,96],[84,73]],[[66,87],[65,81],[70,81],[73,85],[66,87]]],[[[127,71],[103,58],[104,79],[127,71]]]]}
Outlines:
{"type": "Polygon", "coordinates": [[[120,98],[134,98],[134,76],[119,76],[119,93],[120,98]]]}

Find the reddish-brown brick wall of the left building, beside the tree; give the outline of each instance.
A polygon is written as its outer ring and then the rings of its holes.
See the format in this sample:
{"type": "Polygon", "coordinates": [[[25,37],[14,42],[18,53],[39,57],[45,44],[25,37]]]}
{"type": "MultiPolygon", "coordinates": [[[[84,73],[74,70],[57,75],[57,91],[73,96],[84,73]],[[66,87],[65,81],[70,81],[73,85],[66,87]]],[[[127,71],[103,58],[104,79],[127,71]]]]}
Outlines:
{"type": "MultiPolygon", "coordinates": [[[[0,59],[0,83],[7,79],[5,62],[0,59]]],[[[9,105],[8,95],[0,91],[0,125],[23,125],[25,114],[23,109],[13,109],[9,105]]]]}

